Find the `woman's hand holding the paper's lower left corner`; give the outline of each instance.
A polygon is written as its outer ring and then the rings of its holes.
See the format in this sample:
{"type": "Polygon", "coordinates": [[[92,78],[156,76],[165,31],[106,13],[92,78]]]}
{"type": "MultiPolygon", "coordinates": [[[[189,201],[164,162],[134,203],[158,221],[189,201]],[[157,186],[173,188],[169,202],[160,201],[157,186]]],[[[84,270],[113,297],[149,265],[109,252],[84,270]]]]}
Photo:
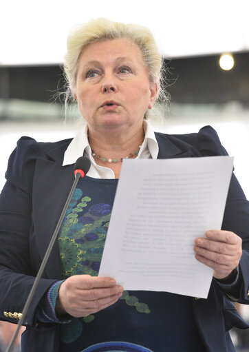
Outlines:
{"type": "Polygon", "coordinates": [[[75,275],[67,278],[58,291],[56,314],[85,317],[105,309],[122,296],[124,289],[113,278],[75,275]]]}

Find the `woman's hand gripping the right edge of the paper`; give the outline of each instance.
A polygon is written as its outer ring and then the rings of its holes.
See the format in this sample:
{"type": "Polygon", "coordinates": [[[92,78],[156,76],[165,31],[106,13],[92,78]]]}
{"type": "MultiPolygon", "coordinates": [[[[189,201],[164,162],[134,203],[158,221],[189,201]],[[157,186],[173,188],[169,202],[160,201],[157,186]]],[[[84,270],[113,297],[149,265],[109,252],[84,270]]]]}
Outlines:
{"type": "Polygon", "coordinates": [[[242,240],[230,231],[210,230],[195,240],[195,258],[213,269],[213,277],[226,278],[239,265],[242,240]]]}

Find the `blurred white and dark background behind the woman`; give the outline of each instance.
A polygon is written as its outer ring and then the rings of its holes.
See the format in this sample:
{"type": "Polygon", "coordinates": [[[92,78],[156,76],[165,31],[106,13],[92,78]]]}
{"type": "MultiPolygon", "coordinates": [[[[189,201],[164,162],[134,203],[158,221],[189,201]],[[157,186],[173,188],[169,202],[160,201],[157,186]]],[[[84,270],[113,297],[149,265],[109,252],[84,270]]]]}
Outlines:
{"type": "MultiPolygon", "coordinates": [[[[21,136],[58,141],[78,130],[78,111],[66,112],[61,65],[69,30],[91,18],[139,23],[153,32],[168,68],[171,99],[156,131],[217,130],[235,156],[235,174],[249,198],[249,2],[43,0],[1,3],[0,189],[8,157],[21,136]],[[57,94],[58,95],[58,94],[57,94]]],[[[246,306],[237,306],[246,320],[246,306]]],[[[249,332],[232,331],[237,351],[249,351],[249,332]]]]}

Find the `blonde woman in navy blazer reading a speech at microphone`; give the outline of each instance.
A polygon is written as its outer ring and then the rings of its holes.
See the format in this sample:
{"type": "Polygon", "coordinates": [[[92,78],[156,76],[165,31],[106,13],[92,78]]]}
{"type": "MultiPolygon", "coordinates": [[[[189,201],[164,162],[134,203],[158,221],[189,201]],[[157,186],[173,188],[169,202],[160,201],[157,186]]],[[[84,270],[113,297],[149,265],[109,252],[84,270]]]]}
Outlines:
{"type": "Polygon", "coordinates": [[[216,132],[151,130],[144,117],[160,94],[162,59],[147,28],[98,19],[76,28],[67,48],[65,74],[86,125],[73,140],[23,137],[10,156],[0,202],[1,318],[14,322],[22,311],[84,154],[91,167],[25,319],[22,351],[235,351],[228,330],[248,325],[230,300],[249,302],[249,207],[235,176],[222,230],[195,242],[197,260],[213,269],[207,300],[127,292],[98,277],[122,158],[224,155],[216,132]]]}

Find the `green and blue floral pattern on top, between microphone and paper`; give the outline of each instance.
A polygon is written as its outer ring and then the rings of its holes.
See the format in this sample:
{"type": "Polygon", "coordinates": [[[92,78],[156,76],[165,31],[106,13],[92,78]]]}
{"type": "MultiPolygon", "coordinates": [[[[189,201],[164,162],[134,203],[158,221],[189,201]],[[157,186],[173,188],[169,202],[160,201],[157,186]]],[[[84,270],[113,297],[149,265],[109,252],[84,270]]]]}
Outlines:
{"type": "Polygon", "coordinates": [[[80,189],[74,191],[58,238],[63,278],[76,274],[98,276],[111,207],[105,203],[89,207],[90,202],[88,196],[82,198],[80,189]],[[83,214],[85,207],[89,209],[83,214]]]}

